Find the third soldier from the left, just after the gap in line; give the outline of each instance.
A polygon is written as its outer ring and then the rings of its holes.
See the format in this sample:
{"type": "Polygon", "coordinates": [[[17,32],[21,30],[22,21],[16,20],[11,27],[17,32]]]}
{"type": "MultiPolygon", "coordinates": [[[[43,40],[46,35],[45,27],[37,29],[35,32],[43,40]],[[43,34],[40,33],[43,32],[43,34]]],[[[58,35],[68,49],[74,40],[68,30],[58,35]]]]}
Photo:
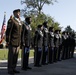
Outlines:
{"type": "Polygon", "coordinates": [[[43,26],[38,25],[34,36],[34,66],[41,67],[42,45],[43,45],[43,26]]]}

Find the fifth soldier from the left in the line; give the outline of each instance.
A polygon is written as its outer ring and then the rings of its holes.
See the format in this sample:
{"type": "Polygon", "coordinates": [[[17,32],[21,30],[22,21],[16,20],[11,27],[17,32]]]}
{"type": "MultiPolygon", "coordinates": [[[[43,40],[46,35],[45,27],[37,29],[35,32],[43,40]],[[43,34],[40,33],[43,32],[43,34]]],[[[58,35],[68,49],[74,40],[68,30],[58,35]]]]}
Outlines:
{"type": "Polygon", "coordinates": [[[49,57],[49,63],[53,63],[54,61],[54,28],[49,28],[49,51],[48,51],[48,57],[49,57]]]}

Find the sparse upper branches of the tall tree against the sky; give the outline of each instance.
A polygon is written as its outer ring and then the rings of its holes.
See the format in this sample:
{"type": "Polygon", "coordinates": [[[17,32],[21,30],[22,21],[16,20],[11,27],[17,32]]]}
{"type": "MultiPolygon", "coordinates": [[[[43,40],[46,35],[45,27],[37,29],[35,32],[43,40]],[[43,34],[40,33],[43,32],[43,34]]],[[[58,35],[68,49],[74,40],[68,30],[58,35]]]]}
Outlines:
{"type": "Polygon", "coordinates": [[[26,15],[29,14],[38,15],[42,13],[42,9],[45,4],[53,5],[54,2],[57,2],[57,0],[22,0],[21,4],[25,4],[25,9],[23,9],[22,12],[25,13],[26,15]]]}

